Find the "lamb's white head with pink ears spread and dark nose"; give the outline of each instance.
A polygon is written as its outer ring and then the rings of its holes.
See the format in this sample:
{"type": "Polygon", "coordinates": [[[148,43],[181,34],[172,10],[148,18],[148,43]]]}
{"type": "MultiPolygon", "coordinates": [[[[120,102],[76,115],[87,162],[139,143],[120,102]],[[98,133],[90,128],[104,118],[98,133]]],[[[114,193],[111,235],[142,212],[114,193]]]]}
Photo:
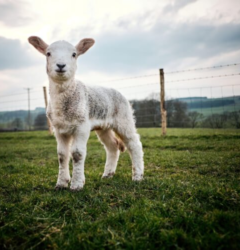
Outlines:
{"type": "Polygon", "coordinates": [[[66,41],[57,41],[47,45],[41,38],[28,38],[39,52],[47,57],[47,74],[56,83],[63,83],[74,78],[77,69],[77,58],[94,44],[94,40],[85,38],[76,46],[66,41]]]}

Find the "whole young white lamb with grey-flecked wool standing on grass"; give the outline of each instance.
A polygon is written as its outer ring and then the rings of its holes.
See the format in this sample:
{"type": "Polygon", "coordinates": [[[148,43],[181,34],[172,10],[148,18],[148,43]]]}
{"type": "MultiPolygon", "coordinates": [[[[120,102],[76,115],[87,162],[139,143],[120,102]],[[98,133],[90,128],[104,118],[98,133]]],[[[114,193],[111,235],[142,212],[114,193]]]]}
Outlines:
{"type": "Polygon", "coordinates": [[[93,130],[107,155],[102,178],[114,175],[120,151],[126,147],[132,160],[132,180],[141,181],[143,150],[129,102],[114,89],[86,86],[75,79],[78,56],[92,47],[95,41],[86,38],[75,47],[66,41],[48,45],[37,36],[29,37],[28,41],[47,58],[50,94],[47,117],[54,129],[59,161],[56,189],[67,188],[70,181],[70,190],[83,188],[87,141],[93,130]],[[72,179],[69,173],[70,154],[72,179]]]}

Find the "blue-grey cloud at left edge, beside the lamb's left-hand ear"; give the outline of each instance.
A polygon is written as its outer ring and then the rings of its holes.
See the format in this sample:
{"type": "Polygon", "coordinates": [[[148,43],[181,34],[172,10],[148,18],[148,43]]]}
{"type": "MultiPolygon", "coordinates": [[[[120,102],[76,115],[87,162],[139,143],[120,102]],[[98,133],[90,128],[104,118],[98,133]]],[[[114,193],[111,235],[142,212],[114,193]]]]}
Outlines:
{"type": "Polygon", "coordinates": [[[0,55],[0,70],[25,68],[38,62],[38,59],[33,57],[19,40],[1,36],[0,55]]]}

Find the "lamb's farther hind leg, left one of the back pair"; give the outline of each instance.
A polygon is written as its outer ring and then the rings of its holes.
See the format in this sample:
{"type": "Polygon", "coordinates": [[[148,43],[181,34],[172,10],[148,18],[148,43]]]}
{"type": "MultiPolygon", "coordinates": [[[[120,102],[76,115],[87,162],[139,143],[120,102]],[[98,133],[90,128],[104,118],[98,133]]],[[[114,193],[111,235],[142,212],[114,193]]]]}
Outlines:
{"type": "Polygon", "coordinates": [[[120,151],[124,151],[125,147],[122,141],[115,137],[111,129],[96,130],[99,140],[103,143],[106,150],[107,159],[102,178],[109,178],[115,174],[120,151]]]}

